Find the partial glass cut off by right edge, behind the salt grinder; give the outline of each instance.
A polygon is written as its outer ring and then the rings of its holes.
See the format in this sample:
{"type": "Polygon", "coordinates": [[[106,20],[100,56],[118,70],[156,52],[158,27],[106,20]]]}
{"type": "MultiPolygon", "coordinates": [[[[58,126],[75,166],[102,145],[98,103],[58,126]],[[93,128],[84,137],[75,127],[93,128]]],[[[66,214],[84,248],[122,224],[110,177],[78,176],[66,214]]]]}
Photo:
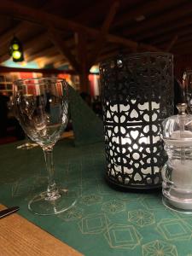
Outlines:
{"type": "Polygon", "coordinates": [[[188,113],[192,113],[192,70],[183,73],[183,96],[188,105],[188,113]]]}

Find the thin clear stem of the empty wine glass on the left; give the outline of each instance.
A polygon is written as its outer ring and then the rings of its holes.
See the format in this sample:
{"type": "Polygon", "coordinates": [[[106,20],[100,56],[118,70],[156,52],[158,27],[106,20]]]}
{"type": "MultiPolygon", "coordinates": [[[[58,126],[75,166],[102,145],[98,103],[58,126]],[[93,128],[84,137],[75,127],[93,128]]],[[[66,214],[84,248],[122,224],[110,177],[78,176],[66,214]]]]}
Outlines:
{"type": "Polygon", "coordinates": [[[61,195],[59,190],[56,187],[54,180],[54,164],[53,164],[53,147],[43,148],[44,150],[44,159],[46,164],[46,169],[48,172],[48,188],[47,188],[47,196],[45,200],[54,201],[59,198],[61,195]]]}

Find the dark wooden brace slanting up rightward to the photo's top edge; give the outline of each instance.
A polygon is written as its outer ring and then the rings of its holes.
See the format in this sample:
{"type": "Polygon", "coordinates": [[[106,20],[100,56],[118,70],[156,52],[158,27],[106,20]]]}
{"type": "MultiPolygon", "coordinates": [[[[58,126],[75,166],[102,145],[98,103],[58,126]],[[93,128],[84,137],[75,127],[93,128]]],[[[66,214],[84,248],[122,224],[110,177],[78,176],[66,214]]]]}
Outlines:
{"type": "Polygon", "coordinates": [[[108,11],[108,15],[106,19],[102,24],[101,32],[98,38],[96,39],[96,44],[95,44],[95,47],[93,48],[93,53],[90,56],[90,60],[88,63],[88,69],[90,69],[90,67],[96,62],[98,55],[102,51],[102,47],[106,43],[106,40],[107,40],[106,36],[108,34],[109,27],[113,21],[114,15],[116,15],[117,13],[118,8],[119,8],[119,2],[114,1],[111,8],[108,11]]]}

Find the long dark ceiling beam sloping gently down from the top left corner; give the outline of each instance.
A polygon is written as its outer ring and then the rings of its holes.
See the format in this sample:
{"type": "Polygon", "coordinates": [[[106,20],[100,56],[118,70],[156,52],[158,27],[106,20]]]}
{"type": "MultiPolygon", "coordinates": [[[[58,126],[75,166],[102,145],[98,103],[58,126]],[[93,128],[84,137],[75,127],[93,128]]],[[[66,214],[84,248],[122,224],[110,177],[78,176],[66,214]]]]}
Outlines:
{"type": "MultiPolygon", "coordinates": [[[[98,37],[100,33],[94,28],[79,25],[76,22],[63,19],[59,16],[46,13],[39,9],[26,7],[25,5],[15,3],[14,1],[10,0],[0,1],[0,14],[12,15],[13,17],[20,20],[30,20],[33,23],[38,23],[42,26],[49,26],[50,24],[52,24],[52,26],[60,30],[68,29],[73,32],[84,32],[93,38],[98,37]]],[[[133,47],[133,44],[137,44],[136,42],[128,40],[127,38],[121,38],[118,36],[113,36],[111,34],[108,34],[107,38],[110,42],[114,43],[115,41],[115,43],[124,44],[125,46],[129,47],[133,47]]]]}

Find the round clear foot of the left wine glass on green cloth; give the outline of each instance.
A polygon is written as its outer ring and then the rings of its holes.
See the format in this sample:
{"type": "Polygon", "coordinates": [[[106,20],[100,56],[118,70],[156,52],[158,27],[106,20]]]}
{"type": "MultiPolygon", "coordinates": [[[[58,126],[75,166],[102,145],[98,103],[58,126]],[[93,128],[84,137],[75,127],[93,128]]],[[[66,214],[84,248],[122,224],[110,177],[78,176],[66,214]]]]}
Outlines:
{"type": "Polygon", "coordinates": [[[76,203],[73,197],[68,195],[67,189],[60,189],[59,198],[47,200],[47,191],[35,195],[28,203],[28,209],[37,215],[53,215],[65,212],[76,203]]]}

